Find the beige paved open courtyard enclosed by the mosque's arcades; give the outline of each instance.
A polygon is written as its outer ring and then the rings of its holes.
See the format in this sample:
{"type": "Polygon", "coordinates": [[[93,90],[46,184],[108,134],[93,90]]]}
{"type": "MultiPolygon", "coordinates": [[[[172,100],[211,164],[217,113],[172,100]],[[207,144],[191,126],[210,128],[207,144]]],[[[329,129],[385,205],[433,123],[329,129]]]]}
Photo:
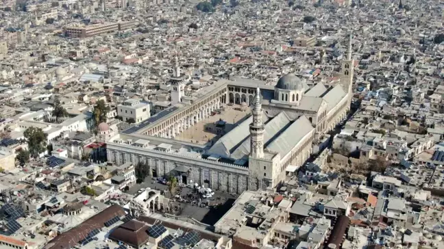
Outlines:
{"type": "Polygon", "coordinates": [[[240,110],[240,105],[232,105],[225,107],[225,111],[221,114],[215,114],[205,120],[201,120],[190,129],[186,129],[175,137],[176,140],[192,142],[197,144],[206,144],[208,142],[215,142],[224,133],[231,131],[236,127],[236,123],[244,120],[251,113],[249,107],[245,111],[240,110]],[[215,122],[223,120],[226,122],[223,134],[217,134],[215,122]]]}

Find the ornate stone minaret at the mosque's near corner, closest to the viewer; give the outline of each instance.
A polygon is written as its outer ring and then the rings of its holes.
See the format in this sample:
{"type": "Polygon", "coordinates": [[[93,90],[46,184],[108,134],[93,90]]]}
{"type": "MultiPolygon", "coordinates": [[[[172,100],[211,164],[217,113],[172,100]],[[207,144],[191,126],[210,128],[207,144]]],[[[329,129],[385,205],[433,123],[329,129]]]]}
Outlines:
{"type": "Polygon", "coordinates": [[[264,124],[262,123],[262,103],[260,90],[256,89],[256,99],[253,105],[253,122],[250,124],[250,157],[264,157],[264,124]]]}

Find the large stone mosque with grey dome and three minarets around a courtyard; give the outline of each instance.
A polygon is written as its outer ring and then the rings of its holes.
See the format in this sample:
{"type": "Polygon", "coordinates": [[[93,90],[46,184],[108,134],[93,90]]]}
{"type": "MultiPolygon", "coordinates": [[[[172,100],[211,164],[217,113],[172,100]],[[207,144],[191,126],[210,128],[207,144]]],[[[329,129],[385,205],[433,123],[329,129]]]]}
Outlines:
{"type": "Polygon", "coordinates": [[[154,176],[173,174],[182,183],[231,193],[276,187],[289,166],[301,166],[310,157],[313,141],[345,118],[353,75],[351,37],[340,83],[329,88],[322,83],[310,88],[290,73],[274,87],[242,79],[221,80],[186,96],[177,66],[171,77],[174,105],[110,137],[108,161],[117,165],[143,161],[154,176]],[[248,103],[251,115],[216,142],[201,145],[177,140],[230,103],[248,103]]]}

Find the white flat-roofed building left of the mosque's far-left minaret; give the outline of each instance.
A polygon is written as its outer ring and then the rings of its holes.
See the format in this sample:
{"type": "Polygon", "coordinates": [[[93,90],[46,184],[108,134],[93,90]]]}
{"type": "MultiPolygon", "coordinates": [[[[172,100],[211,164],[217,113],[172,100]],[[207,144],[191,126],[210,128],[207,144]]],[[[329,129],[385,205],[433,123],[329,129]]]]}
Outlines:
{"type": "Polygon", "coordinates": [[[137,99],[128,99],[123,101],[121,105],[117,105],[117,115],[122,117],[123,121],[131,118],[136,123],[142,122],[149,118],[149,103],[141,102],[137,99]]]}

